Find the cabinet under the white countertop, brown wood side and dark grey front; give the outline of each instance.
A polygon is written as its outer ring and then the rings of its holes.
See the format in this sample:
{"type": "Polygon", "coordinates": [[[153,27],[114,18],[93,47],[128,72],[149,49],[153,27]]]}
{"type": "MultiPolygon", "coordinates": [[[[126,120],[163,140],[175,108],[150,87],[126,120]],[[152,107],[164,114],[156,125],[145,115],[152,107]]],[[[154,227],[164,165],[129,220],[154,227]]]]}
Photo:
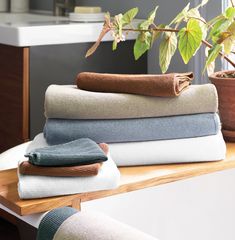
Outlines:
{"type": "Polygon", "coordinates": [[[86,59],[90,45],[0,45],[0,152],[42,132],[44,93],[50,84],[75,84],[81,71],[147,72],[147,55],[134,60],[133,40],[120,44],[115,52],[111,42],[103,42],[86,59]]]}

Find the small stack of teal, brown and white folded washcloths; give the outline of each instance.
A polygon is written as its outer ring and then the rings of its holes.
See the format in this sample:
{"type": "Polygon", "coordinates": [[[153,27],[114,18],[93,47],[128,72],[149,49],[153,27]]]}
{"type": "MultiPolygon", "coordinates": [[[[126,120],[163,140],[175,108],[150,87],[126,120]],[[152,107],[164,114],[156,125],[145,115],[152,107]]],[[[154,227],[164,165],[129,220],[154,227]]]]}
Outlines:
{"type": "Polygon", "coordinates": [[[120,173],[109,157],[108,145],[88,138],[48,146],[36,137],[28,161],[19,163],[18,192],[22,199],[113,189],[120,173]],[[40,148],[37,148],[40,146],[40,148]]]}

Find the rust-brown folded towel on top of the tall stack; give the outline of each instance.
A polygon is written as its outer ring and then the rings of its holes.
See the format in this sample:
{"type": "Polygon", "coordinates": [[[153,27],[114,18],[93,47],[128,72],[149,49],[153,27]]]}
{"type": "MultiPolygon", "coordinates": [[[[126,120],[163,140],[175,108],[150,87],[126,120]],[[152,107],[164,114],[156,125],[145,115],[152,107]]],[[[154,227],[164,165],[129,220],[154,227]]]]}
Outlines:
{"type": "Polygon", "coordinates": [[[174,97],[193,80],[193,73],[169,74],[107,74],[82,72],[77,86],[93,92],[132,93],[153,97],[174,97]]]}

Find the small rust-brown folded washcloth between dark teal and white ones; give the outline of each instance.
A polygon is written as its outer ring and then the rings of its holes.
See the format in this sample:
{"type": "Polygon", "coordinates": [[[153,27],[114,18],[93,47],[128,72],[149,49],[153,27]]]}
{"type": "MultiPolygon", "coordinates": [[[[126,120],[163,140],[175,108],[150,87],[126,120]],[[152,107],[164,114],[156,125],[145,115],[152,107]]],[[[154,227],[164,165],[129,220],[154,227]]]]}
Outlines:
{"type": "Polygon", "coordinates": [[[88,177],[98,174],[102,163],[93,163],[71,167],[39,167],[28,161],[19,165],[19,173],[22,175],[51,176],[51,177],[88,177]]]}

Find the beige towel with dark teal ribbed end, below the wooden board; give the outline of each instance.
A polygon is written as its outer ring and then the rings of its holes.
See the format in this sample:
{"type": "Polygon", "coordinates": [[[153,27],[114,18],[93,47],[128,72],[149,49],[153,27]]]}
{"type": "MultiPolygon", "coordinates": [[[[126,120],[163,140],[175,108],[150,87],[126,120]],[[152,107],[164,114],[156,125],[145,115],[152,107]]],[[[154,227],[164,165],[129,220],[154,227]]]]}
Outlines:
{"type": "Polygon", "coordinates": [[[57,208],[42,219],[37,240],[157,240],[99,212],[57,208]]]}

